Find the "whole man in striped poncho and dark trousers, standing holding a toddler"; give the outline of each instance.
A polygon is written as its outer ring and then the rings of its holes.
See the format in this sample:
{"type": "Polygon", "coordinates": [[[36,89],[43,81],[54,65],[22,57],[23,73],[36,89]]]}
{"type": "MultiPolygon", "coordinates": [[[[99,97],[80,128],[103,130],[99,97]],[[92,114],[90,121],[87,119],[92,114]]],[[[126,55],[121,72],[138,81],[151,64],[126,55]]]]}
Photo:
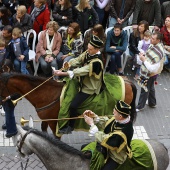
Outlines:
{"type": "Polygon", "coordinates": [[[151,44],[152,46],[147,50],[146,54],[140,53],[140,60],[142,66],[140,69],[140,75],[142,81],[147,81],[147,90],[141,88],[139,102],[136,107],[136,111],[139,112],[144,109],[146,101],[150,107],[156,107],[155,87],[154,82],[157,74],[160,74],[163,68],[164,62],[164,47],[161,43],[162,34],[155,31],[152,34],[151,44]]]}

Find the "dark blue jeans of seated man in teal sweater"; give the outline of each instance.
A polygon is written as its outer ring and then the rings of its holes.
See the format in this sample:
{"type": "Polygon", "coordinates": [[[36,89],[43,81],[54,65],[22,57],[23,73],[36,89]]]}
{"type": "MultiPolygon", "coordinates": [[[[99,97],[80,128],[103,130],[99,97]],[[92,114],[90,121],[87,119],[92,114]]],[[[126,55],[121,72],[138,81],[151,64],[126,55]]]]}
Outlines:
{"type": "Polygon", "coordinates": [[[117,68],[122,68],[121,66],[121,55],[122,52],[113,52],[111,54],[110,61],[110,73],[114,74],[117,68]]]}

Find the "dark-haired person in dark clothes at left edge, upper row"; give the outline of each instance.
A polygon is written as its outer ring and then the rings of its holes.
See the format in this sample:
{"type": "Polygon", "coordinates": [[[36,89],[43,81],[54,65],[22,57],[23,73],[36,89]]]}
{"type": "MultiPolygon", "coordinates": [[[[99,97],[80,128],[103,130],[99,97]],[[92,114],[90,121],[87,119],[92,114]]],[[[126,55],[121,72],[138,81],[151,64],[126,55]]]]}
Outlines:
{"type": "Polygon", "coordinates": [[[5,7],[0,7],[0,30],[4,28],[5,25],[10,25],[10,11],[5,7]]]}

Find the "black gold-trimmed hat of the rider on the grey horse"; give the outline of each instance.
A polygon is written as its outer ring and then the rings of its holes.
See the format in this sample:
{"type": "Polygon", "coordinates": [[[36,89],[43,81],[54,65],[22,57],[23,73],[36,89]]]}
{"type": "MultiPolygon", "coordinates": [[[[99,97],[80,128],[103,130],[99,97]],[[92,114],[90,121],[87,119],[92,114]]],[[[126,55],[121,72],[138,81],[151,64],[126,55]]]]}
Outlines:
{"type": "Polygon", "coordinates": [[[115,110],[119,112],[122,115],[130,115],[131,114],[131,106],[129,106],[127,103],[123,102],[122,100],[119,100],[115,106],[115,110]]]}

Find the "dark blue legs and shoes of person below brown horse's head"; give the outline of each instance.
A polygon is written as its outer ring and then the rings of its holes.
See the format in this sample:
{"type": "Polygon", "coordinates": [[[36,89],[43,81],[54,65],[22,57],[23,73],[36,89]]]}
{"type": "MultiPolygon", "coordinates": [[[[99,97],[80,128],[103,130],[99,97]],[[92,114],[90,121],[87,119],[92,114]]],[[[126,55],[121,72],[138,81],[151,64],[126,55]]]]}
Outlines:
{"type": "Polygon", "coordinates": [[[6,129],[5,136],[7,138],[15,136],[18,133],[14,115],[15,105],[12,103],[11,100],[16,100],[19,97],[20,97],[19,94],[12,94],[11,96],[8,96],[4,100],[2,100],[3,102],[2,106],[5,111],[5,124],[3,125],[2,128],[6,129]]]}

